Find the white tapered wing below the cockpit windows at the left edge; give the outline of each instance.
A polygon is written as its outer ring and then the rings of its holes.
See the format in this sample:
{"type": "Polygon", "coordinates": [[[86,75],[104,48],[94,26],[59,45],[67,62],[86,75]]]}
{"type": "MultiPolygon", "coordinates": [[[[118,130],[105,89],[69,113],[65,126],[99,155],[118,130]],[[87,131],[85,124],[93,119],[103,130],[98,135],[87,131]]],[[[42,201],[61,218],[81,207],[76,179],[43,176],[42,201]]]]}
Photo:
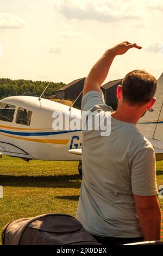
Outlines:
{"type": "Polygon", "coordinates": [[[33,159],[26,151],[6,142],[0,142],[0,157],[2,155],[16,156],[16,157],[26,157],[33,159]]]}

